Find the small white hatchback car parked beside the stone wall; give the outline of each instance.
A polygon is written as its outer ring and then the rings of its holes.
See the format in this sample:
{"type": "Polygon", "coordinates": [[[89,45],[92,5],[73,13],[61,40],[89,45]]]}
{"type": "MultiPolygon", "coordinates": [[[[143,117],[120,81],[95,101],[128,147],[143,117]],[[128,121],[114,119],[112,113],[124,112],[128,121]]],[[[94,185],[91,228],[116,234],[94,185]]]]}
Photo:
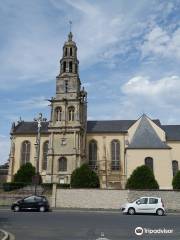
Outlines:
{"type": "Polygon", "coordinates": [[[134,202],[124,204],[121,210],[123,213],[130,215],[135,213],[155,213],[163,216],[165,214],[163,201],[158,197],[141,197],[134,202]]]}

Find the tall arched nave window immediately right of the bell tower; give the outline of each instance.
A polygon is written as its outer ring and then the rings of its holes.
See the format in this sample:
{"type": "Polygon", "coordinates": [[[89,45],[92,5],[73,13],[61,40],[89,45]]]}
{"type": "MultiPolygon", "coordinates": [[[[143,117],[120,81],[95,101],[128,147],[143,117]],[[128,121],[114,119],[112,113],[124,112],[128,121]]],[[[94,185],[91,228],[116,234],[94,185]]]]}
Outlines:
{"type": "Polygon", "coordinates": [[[95,140],[89,142],[89,166],[93,169],[97,167],[97,142],[95,140]]]}

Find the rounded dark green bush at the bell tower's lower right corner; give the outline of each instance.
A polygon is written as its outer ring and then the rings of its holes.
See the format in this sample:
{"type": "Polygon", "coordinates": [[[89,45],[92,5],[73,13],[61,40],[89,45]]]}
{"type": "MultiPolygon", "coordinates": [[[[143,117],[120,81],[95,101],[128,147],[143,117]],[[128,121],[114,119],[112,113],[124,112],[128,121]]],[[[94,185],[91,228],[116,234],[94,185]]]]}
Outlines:
{"type": "Polygon", "coordinates": [[[87,164],[75,169],[71,175],[73,188],[99,188],[99,186],[99,177],[87,164]]]}

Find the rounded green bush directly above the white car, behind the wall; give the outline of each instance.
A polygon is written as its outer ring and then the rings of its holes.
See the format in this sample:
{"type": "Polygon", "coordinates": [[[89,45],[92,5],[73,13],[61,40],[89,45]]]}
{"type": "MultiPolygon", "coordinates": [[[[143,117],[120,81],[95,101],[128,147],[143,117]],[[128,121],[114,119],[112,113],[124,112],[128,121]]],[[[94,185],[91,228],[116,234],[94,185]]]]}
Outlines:
{"type": "Polygon", "coordinates": [[[127,189],[159,189],[153,171],[145,165],[137,167],[126,183],[127,189]]]}

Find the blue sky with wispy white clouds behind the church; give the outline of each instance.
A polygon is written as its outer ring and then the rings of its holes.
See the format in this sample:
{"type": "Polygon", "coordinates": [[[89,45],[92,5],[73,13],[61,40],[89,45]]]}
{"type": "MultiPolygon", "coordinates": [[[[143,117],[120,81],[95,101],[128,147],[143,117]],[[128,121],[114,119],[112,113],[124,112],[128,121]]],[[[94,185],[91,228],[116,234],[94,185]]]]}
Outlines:
{"type": "Polygon", "coordinates": [[[180,124],[179,0],[0,0],[0,163],[12,122],[49,119],[70,20],[89,120],[180,124]]]}

